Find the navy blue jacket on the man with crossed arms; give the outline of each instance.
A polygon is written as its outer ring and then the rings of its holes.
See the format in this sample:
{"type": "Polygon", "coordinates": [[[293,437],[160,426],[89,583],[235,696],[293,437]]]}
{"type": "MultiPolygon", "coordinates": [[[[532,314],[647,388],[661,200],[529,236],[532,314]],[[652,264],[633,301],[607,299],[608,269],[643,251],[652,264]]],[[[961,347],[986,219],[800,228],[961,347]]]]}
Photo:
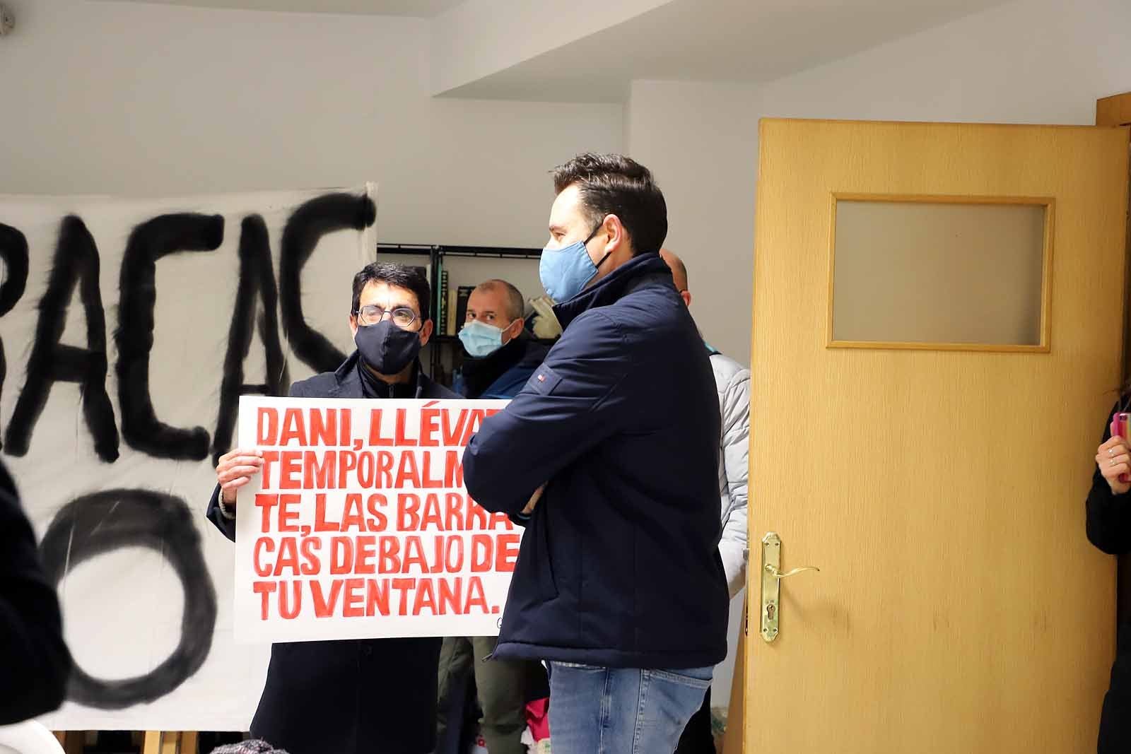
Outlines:
{"type": "Polygon", "coordinates": [[[718,397],[657,254],[555,307],[564,328],[464,454],[468,493],[520,513],[495,656],[681,669],[726,657],[718,397]]]}

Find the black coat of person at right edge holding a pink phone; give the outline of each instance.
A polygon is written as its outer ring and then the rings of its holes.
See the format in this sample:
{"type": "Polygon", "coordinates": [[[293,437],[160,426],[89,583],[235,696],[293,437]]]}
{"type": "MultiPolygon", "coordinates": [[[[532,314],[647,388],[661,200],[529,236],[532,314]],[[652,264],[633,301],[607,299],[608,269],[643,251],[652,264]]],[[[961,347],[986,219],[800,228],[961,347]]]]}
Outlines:
{"type": "MultiPolygon", "coordinates": [[[[1111,436],[1112,417],[1104,425],[1103,442],[1111,436]]],[[[1087,502],[1088,539],[1110,555],[1131,554],[1131,494],[1115,495],[1097,467],[1091,477],[1087,502]]],[[[1104,697],[1099,720],[1099,754],[1131,752],[1131,621],[1120,621],[1112,685],[1104,697]]]]}

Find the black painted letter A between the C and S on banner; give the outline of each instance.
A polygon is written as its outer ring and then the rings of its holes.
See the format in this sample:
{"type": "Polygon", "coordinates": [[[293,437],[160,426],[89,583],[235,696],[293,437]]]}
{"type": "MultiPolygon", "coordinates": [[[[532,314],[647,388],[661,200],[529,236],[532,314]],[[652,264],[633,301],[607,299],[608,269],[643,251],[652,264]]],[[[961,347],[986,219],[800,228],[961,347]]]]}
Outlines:
{"type": "Polygon", "coordinates": [[[279,344],[278,292],[271,268],[271,248],[267,224],[259,215],[243,219],[240,229],[240,284],[235,292],[235,311],[227,335],[224,357],[224,380],[219,389],[219,416],[213,435],[213,462],[232,448],[232,430],[240,408],[240,396],[285,396],[291,383],[286,357],[279,344]],[[262,311],[256,317],[256,300],[262,300],[262,311]],[[265,384],[243,382],[243,362],[251,352],[251,338],[258,319],[259,339],[266,352],[265,384]]]}

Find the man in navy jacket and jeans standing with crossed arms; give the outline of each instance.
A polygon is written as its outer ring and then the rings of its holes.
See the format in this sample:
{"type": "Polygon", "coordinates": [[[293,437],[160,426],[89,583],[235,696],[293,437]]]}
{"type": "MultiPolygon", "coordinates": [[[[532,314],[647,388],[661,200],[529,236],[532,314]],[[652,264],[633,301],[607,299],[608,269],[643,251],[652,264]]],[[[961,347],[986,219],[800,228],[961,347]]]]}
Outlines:
{"type": "Polygon", "coordinates": [[[672,752],[726,656],[715,379],[650,172],[580,155],[554,189],[564,332],[464,456],[470,495],[527,527],[495,657],[552,662],[555,753],[672,752]]]}

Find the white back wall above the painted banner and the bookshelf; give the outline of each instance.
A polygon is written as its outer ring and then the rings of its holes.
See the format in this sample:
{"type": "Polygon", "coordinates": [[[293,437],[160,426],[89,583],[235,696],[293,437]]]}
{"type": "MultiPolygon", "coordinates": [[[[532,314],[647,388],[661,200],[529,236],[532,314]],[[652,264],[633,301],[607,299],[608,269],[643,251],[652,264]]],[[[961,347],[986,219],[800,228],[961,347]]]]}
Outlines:
{"type": "Polygon", "coordinates": [[[0,192],[375,180],[383,241],[541,248],[547,171],[621,148],[620,105],[430,97],[422,19],[8,2],[0,192]]]}

